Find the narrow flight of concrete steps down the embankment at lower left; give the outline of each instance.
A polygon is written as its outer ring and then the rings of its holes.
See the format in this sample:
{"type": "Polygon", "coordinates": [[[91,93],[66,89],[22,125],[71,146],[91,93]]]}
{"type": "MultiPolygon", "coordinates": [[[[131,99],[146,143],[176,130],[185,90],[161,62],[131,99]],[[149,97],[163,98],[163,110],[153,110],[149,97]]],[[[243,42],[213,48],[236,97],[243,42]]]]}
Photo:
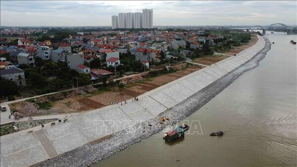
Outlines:
{"type": "Polygon", "coordinates": [[[55,151],[55,149],[53,148],[53,146],[51,145],[51,143],[44,131],[37,130],[37,131],[34,131],[34,133],[36,134],[36,136],[39,139],[39,141],[41,142],[43,148],[46,150],[47,154],[49,155],[49,158],[52,158],[52,157],[58,155],[57,152],[55,151]]]}

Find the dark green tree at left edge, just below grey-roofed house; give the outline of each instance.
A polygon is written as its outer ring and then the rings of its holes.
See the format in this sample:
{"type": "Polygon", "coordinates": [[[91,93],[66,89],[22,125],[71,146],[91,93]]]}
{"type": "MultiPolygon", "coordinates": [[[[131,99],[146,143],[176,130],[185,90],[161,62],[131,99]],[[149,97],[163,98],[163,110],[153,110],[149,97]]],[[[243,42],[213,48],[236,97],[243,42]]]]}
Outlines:
{"type": "Polygon", "coordinates": [[[18,88],[15,82],[0,78],[0,96],[18,95],[18,88]]]}

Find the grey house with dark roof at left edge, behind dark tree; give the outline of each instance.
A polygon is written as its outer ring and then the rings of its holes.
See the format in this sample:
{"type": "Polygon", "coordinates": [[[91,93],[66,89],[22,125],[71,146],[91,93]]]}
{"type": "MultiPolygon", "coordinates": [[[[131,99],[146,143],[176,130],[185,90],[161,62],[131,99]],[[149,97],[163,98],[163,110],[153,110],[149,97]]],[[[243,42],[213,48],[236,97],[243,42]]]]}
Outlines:
{"type": "Polygon", "coordinates": [[[1,69],[0,76],[3,79],[14,81],[17,85],[26,86],[25,73],[20,68],[1,69]]]}

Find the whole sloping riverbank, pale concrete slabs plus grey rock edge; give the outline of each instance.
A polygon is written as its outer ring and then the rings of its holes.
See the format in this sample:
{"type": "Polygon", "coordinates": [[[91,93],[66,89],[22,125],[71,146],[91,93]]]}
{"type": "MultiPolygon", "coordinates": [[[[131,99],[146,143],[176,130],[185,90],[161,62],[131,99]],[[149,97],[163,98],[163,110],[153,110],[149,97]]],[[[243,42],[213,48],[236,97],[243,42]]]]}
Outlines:
{"type": "Polygon", "coordinates": [[[36,166],[87,166],[160,131],[164,128],[162,125],[154,126],[160,113],[170,114],[171,119],[175,120],[185,118],[193,113],[193,110],[186,110],[186,108],[191,108],[193,97],[196,102],[201,102],[198,105],[201,107],[224,87],[213,90],[213,92],[205,90],[222,79],[225,79],[223,86],[226,87],[243,73],[244,70],[238,73],[238,76],[229,77],[243,64],[248,64],[247,61],[249,62],[265,47],[264,38],[258,38],[255,45],[238,56],[231,56],[215,65],[147,92],[139,96],[137,102],[129,100],[122,106],[107,106],[75,114],[68,117],[69,121],[66,123],[43,128],[44,136],[49,141],[46,142],[46,146],[42,144],[45,142],[40,141],[41,137],[35,132],[18,132],[1,136],[1,167],[36,164],[51,158],[49,152],[52,149],[58,156],[36,166]],[[147,123],[139,123],[144,120],[150,120],[153,126],[148,128],[147,123]],[[123,129],[131,129],[128,128],[129,125],[137,122],[136,126],[140,128],[136,130],[136,133],[123,131],[123,129]],[[114,132],[116,133],[111,138],[101,143],[90,143],[114,132]]]}

